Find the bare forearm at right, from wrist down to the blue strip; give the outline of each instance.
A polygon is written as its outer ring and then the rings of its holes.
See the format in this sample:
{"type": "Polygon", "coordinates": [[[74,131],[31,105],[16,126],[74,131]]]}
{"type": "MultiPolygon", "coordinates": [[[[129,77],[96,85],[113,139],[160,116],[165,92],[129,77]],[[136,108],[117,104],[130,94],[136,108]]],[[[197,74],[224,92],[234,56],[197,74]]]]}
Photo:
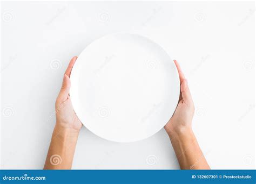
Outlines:
{"type": "Polygon", "coordinates": [[[172,132],[169,137],[181,169],[210,169],[192,129],[172,132]]]}

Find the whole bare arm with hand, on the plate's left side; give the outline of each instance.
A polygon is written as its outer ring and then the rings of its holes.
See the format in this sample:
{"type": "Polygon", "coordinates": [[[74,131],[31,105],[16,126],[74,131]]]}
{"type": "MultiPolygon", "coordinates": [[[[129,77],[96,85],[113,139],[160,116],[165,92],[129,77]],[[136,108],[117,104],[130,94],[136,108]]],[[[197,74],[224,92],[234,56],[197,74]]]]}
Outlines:
{"type": "Polygon", "coordinates": [[[56,125],[45,160],[44,169],[71,169],[78,133],[82,123],[73,110],[69,97],[70,74],[77,57],[73,57],[63,77],[62,88],[55,103],[56,125]]]}

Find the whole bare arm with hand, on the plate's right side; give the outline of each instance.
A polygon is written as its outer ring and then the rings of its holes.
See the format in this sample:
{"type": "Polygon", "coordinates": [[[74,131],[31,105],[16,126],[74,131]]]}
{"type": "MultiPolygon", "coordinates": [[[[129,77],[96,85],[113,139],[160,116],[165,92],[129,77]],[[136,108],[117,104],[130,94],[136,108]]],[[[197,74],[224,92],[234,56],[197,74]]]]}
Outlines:
{"type": "Polygon", "coordinates": [[[180,99],[176,111],[165,125],[181,169],[210,169],[192,131],[194,103],[181,68],[174,60],[180,77],[180,99]]]}

